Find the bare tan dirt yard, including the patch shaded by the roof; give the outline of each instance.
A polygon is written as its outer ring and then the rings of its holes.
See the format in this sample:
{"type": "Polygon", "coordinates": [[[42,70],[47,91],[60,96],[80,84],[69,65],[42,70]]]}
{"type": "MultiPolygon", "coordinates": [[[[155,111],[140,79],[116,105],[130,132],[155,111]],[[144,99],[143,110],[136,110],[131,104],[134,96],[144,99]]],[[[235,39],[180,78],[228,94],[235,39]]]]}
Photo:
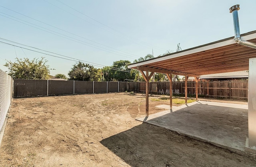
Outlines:
{"type": "MultiPolygon", "coordinates": [[[[154,106],[169,104],[155,100],[160,97],[150,97],[150,114],[164,110],[154,106]]],[[[142,94],[14,99],[0,166],[256,166],[252,158],[135,120],[144,115],[142,94]]]]}

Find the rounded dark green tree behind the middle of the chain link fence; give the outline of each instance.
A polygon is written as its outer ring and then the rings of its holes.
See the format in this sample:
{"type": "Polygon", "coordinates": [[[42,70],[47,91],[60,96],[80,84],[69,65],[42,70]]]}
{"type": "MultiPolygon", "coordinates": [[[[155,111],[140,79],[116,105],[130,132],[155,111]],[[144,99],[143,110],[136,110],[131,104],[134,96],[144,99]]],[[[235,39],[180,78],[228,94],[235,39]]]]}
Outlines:
{"type": "Polygon", "coordinates": [[[68,72],[70,80],[75,81],[100,81],[101,73],[92,65],[78,62],[68,72]]]}

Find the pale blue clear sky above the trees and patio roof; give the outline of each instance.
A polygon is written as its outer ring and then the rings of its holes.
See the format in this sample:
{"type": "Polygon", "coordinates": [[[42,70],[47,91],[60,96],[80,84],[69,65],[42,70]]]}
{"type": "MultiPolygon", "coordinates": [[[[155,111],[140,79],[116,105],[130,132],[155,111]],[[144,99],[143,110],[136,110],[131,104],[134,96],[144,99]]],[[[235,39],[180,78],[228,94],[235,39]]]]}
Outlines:
{"type": "MultiPolygon", "coordinates": [[[[235,4],[240,4],[240,32],[256,30],[255,0],[1,0],[0,38],[102,68],[118,60],[133,62],[152,49],[157,57],[178,43],[184,50],[231,37],[229,8],[235,4]]],[[[0,69],[7,71],[4,63],[16,57],[46,57],[55,69],[51,75],[67,75],[76,63],[0,43],[0,69]]]]}

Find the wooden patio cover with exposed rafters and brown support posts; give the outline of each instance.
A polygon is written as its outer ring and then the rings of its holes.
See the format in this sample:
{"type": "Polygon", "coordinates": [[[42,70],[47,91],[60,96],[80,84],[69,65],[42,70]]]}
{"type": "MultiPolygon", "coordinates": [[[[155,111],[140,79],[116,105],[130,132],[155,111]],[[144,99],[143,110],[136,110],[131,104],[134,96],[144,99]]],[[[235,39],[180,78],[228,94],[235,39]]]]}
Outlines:
{"type": "MultiPolygon", "coordinates": [[[[243,40],[256,43],[256,31],[241,34],[243,40]]],[[[172,87],[172,75],[186,76],[185,99],[187,98],[187,79],[195,77],[196,83],[200,75],[226,73],[249,70],[249,59],[256,57],[256,49],[237,44],[234,37],[222,39],[184,51],[179,51],[128,65],[137,69],[146,81],[146,116],[148,116],[148,81],[152,77],[149,72],[165,73],[172,87]],[[146,71],[146,73],[144,73],[146,71]]],[[[196,99],[197,99],[196,84],[196,99]]],[[[172,93],[170,94],[170,110],[172,110],[172,93]]]]}

